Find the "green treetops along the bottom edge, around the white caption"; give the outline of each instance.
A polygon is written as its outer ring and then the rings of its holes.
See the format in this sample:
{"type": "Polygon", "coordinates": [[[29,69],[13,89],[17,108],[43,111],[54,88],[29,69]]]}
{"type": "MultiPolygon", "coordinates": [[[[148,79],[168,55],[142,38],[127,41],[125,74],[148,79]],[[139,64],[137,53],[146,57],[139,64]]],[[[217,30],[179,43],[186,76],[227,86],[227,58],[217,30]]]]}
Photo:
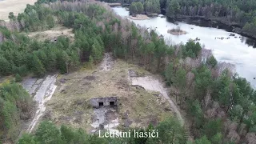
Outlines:
{"type": "MultiPolygon", "coordinates": [[[[18,144],[107,144],[107,143],[134,143],[134,144],[155,144],[155,143],[184,143],[185,130],[175,118],[168,118],[159,122],[158,126],[149,125],[145,129],[130,130],[131,138],[99,138],[98,134],[86,134],[84,130],[74,129],[62,125],[60,128],[52,122],[41,122],[34,134],[23,134],[18,144]],[[134,130],[138,132],[149,132],[158,130],[158,138],[134,138],[134,130]]],[[[122,132],[129,130],[123,130],[122,132]]],[[[101,133],[103,133],[101,131],[101,133]]]]}

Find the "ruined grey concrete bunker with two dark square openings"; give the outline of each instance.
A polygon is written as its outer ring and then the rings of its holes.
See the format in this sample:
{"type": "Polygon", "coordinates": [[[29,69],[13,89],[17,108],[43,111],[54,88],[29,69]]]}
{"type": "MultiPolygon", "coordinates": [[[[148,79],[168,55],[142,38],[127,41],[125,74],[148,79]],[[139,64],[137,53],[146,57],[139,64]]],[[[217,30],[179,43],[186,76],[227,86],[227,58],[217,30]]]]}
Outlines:
{"type": "Polygon", "coordinates": [[[90,105],[94,108],[99,108],[102,106],[118,106],[117,97],[107,97],[107,98],[91,98],[90,105]]]}

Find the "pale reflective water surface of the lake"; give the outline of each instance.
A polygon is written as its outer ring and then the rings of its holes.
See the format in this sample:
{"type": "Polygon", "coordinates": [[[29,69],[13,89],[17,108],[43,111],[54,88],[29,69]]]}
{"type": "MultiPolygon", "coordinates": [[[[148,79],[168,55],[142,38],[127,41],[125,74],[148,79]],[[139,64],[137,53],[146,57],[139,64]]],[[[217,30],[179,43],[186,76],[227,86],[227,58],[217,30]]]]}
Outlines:
{"type": "MultiPolygon", "coordinates": [[[[113,10],[123,18],[129,16],[129,11],[123,7],[114,7],[113,10]]],[[[164,38],[170,39],[173,44],[186,43],[190,38],[200,38],[201,45],[204,45],[206,49],[213,50],[214,57],[217,58],[218,62],[234,64],[237,73],[256,87],[256,80],[254,80],[256,77],[256,49],[254,48],[256,42],[253,39],[243,37],[240,34],[235,34],[237,38],[234,38],[230,36],[231,29],[210,22],[202,22],[202,20],[186,19],[184,22],[173,22],[167,18],[156,17],[146,20],[130,19],[130,21],[140,26],[155,29],[164,38]],[[167,33],[167,30],[177,26],[180,26],[188,34],[176,36],[167,33]],[[222,40],[218,39],[222,37],[222,40]]]]}

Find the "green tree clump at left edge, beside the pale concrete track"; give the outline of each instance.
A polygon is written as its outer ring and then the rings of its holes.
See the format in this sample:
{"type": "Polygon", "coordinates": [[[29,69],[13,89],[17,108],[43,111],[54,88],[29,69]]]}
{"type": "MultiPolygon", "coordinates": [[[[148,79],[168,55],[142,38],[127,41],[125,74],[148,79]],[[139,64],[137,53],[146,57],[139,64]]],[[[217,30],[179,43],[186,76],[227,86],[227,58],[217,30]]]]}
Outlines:
{"type": "Polygon", "coordinates": [[[22,86],[11,80],[0,86],[0,107],[1,141],[14,142],[22,131],[22,122],[32,116],[32,98],[22,86]]]}

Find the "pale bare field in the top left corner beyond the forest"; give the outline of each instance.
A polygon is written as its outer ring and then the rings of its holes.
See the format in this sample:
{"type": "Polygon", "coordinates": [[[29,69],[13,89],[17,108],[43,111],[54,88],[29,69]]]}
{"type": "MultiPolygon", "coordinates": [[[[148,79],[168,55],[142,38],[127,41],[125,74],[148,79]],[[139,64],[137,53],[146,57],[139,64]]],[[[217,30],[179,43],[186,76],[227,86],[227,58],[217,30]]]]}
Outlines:
{"type": "Polygon", "coordinates": [[[34,5],[36,0],[0,0],[0,19],[8,20],[10,12],[14,12],[14,15],[22,13],[27,4],[34,5]]]}

